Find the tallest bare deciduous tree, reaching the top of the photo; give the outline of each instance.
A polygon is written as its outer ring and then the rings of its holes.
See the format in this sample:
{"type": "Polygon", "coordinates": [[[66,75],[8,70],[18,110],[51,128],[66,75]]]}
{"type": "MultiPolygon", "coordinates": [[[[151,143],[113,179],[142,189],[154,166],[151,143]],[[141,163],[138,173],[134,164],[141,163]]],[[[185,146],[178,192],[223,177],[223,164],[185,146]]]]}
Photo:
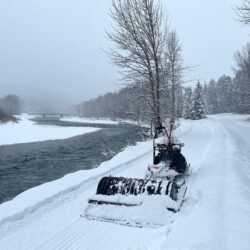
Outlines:
{"type": "Polygon", "coordinates": [[[159,123],[160,71],[167,31],[161,4],[157,0],[113,0],[110,15],[114,31],[108,37],[115,48],[109,54],[129,84],[143,90],[151,117],[159,123]]]}

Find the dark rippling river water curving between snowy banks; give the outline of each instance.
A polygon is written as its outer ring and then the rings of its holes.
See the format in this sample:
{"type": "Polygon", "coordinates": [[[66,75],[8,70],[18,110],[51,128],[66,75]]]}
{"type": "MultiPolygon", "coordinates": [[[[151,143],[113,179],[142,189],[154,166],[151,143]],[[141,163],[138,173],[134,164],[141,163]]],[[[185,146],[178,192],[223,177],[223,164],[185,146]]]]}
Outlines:
{"type": "Polygon", "coordinates": [[[64,140],[0,146],[0,203],[68,173],[98,167],[127,145],[144,140],[146,131],[129,124],[39,123],[102,129],[64,140]]]}

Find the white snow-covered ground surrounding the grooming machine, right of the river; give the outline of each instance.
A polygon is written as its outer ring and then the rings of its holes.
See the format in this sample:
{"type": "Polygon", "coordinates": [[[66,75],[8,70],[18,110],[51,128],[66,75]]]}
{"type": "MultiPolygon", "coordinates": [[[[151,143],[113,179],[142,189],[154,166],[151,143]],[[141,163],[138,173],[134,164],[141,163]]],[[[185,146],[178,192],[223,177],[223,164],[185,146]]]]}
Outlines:
{"type": "MultiPolygon", "coordinates": [[[[183,154],[192,173],[180,212],[162,217],[169,220],[166,225],[127,227],[80,217],[102,176],[144,177],[152,161],[152,142],[147,141],[128,147],[99,168],[68,174],[0,205],[0,249],[250,249],[246,118],[223,114],[182,121],[175,134],[185,143],[183,154]]],[[[152,217],[165,214],[158,209],[152,217]]],[[[144,210],[141,217],[148,216],[144,210]]],[[[114,210],[113,215],[119,213],[114,210]]]]}

